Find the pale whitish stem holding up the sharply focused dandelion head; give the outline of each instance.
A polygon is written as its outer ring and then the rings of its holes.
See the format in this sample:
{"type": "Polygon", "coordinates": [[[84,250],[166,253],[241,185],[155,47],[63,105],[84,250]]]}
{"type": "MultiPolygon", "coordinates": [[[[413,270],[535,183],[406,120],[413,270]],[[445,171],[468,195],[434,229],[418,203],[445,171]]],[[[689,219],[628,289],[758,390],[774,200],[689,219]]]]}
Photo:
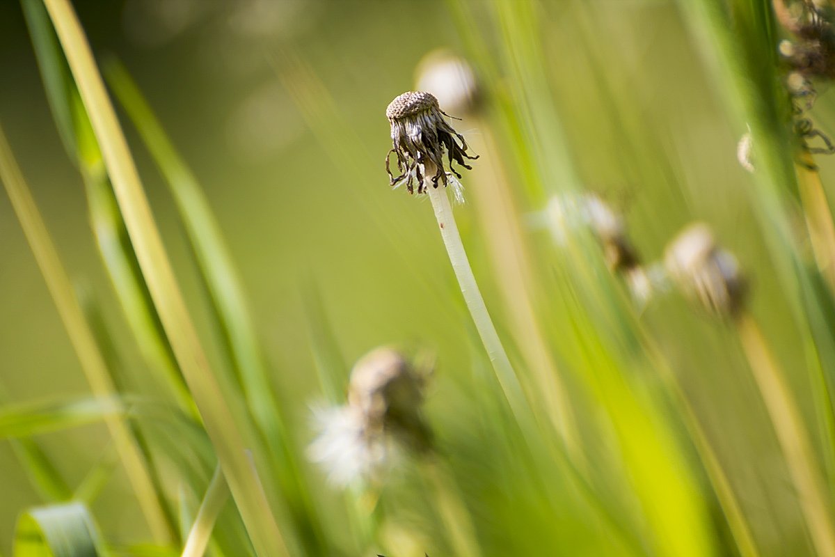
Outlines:
{"type": "MultiPolygon", "coordinates": [[[[427,164],[424,175],[435,175],[434,165],[427,164]]],[[[458,285],[461,286],[461,293],[464,296],[470,316],[473,317],[475,327],[478,329],[478,336],[481,337],[484,349],[493,364],[493,370],[496,372],[504,396],[508,399],[511,411],[520,424],[528,423],[525,417],[529,415],[529,411],[525,404],[522,385],[510,364],[507,352],[504,351],[502,341],[498,338],[498,332],[496,332],[496,327],[493,326],[493,320],[490,318],[487,306],[484,305],[484,298],[478,289],[475,276],[473,276],[473,269],[470,267],[467,252],[464,251],[458,225],[455,224],[453,206],[449,203],[447,191],[443,188],[433,187],[431,179],[426,179],[424,183],[429,199],[432,200],[435,218],[438,220],[438,226],[441,229],[441,237],[444,246],[447,248],[449,261],[453,264],[455,277],[458,279],[458,285]]]]}

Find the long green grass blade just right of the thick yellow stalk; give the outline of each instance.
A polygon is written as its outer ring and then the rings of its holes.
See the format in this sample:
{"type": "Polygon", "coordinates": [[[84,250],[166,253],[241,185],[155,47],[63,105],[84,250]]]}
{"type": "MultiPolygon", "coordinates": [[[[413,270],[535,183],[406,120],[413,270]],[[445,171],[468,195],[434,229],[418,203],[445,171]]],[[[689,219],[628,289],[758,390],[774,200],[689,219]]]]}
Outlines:
{"type": "Polygon", "coordinates": [[[299,452],[293,445],[273,394],[244,289],[215,215],[194,173],[177,153],[124,66],[110,58],[104,66],[104,73],[170,187],[200,275],[209,291],[236,376],[251,408],[252,418],[261,431],[261,438],[275,459],[281,491],[301,539],[311,554],[327,552],[320,519],[301,476],[301,464],[296,458],[299,452]]]}

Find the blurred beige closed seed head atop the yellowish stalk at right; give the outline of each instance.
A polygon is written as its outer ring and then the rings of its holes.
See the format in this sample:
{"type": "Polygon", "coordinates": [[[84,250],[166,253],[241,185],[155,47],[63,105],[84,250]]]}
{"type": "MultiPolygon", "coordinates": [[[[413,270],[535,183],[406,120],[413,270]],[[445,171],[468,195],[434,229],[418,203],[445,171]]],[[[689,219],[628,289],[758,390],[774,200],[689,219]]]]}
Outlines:
{"type": "Polygon", "coordinates": [[[707,225],[691,225],[667,246],[665,266],[686,295],[710,311],[734,316],[741,309],[746,282],[736,257],[716,246],[707,225]]]}

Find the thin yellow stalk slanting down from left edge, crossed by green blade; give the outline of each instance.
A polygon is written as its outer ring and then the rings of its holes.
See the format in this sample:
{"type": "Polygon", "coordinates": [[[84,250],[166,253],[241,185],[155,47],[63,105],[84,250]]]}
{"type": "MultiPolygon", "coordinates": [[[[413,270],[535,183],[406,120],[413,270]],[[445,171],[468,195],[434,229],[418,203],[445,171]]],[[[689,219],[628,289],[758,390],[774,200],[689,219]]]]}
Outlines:
{"type": "MultiPolygon", "coordinates": [[[[14,160],[2,126],[0,126],[0,179],[6,187],[9,200],[12,201],[29,246],[38,261],[38,267],[58,308],[58,314],[61,316],[73,349],[81,362],[90,390],[102,401],[113,399],[118,394],[110,378],[107,364],[99,352],[89,323],[84,319],[84,312],[75,296],[67,271],[64,270],[58,258],[58,251],[49,237],[38,206],[35,205],[28,186],[23,180],[23,173],[17,161],[14,160]]],[[[151,534],[158,541],[171,539],[173,533],[168,529],[163,509],[154,493],[154,484],[151,481],[147,463],[142,458],[124,419],[119,415],[106,413],[104,423],[107,424],[110,435],[114,438],[119,457],[124,463],[124,469],[136,494],[139,507],[151,529],[151,534]]]]}

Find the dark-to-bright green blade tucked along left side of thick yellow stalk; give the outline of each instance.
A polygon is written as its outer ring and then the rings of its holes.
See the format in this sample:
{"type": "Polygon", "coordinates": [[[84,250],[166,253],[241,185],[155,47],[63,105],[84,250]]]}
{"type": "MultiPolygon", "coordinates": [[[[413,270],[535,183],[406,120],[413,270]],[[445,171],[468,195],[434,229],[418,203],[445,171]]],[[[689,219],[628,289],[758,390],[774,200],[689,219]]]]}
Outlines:
{"type": "Polygon", "coordinates": [[[47,99],[68,154],[83,177],[90,224],[125,318],[149,371],[170,389],[182,408],[196,412],[139,270],[101,149],[52,23],[41,0],[22,0],[22,4],[47,99]]]}

